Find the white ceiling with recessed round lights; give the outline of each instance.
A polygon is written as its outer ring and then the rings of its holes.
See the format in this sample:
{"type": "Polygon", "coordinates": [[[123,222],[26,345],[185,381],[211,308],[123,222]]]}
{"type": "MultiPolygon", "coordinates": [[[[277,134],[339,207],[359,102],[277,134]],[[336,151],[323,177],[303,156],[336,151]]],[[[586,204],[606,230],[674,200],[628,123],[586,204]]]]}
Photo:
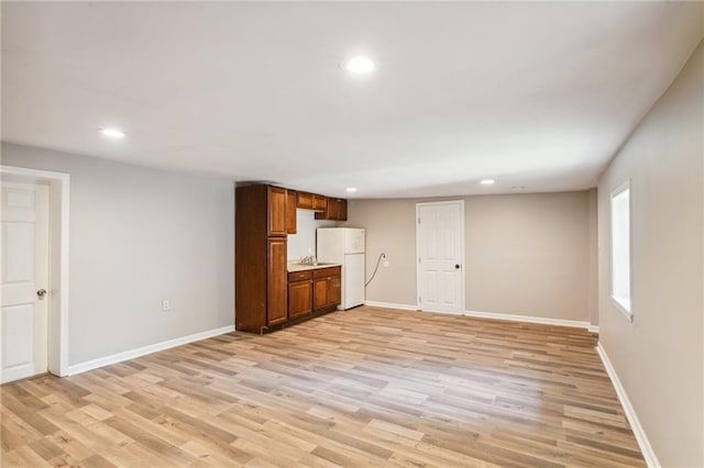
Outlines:
{"type": "Polygon", "coordinates": [[[703,24],[697,2],[2,2],[2,138],[360,198],[585,189],[703,24]],[[358,53],[374,74],[340,68],[358,53]]]}

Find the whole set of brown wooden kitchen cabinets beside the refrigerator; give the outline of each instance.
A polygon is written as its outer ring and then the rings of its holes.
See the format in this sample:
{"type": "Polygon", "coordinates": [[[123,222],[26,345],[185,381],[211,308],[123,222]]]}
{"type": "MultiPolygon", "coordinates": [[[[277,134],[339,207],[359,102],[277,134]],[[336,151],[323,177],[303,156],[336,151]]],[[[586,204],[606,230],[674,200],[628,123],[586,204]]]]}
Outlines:
{"type": "Polygon", "coordinates": [[[334,310],[340,267],[287,271],[287,234],[296,233],[296,209],[324,215],[328,198],[254,185],[237,188],[235,204],[235,328],[265,333],[334,310]]]}

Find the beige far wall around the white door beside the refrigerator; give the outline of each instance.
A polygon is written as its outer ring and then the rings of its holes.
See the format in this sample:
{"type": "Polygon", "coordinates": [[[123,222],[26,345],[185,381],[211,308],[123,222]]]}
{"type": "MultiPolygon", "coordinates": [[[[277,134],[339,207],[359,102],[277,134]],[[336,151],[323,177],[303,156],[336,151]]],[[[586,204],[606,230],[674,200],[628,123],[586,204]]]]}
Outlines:
{"type": "MultiPolygon", "coordinates": [[[[462,199],[466,310],[590,321],[588,191],[462,199]]],[[[438,200],[350,201],[348,225],[366,229],[367,277],[380,253],[391,261],[367,300],[416,305],[416,203],[438,200]]]]}

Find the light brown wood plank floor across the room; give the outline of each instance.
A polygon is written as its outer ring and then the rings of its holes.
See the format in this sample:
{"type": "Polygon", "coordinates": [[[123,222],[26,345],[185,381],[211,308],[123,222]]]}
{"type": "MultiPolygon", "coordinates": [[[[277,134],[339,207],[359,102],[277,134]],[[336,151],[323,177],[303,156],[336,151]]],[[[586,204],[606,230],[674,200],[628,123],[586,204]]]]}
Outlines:
{"type": "Polygon", "coordinates": [[[645,466],[578,328],[370,307],[1,388],[2,466],[645,466]]]}

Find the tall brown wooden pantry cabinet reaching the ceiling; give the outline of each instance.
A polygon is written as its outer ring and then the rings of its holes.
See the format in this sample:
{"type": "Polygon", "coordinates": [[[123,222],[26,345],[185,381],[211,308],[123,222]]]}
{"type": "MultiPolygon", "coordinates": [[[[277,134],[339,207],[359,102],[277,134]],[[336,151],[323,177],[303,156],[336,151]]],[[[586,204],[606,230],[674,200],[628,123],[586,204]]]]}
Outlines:
{"type": "Polygon", "coordinates": [[[286,189],[238,187],[235,204],[235,328],[263,333],[288,315],[286,189]]]}

